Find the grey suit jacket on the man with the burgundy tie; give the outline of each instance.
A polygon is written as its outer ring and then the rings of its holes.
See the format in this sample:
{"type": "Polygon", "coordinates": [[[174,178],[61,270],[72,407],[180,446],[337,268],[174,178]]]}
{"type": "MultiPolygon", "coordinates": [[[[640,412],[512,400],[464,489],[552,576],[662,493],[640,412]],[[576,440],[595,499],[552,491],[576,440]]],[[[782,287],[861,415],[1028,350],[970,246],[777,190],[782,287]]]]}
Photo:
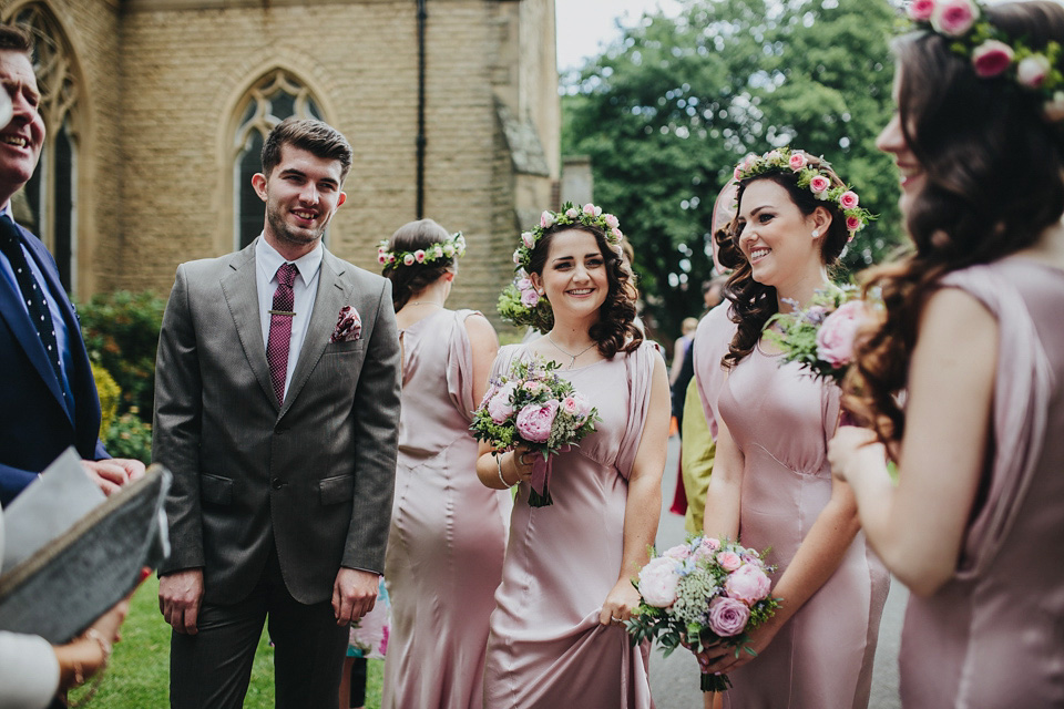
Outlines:
{"type": "Polygon", "coordinates": [[[285,401],[269,379],[255,244],[183,264],[155,370],[152,456],[174,474],[173,553],[160,573],[202,567],[204,599],[236,603],[276,545],[289,593],[331,597],[340,566],[380,572],[399,427],[391,282],[328,250],[285,401]],[[330,343],[340,308],[361,338],[330,343]]]}

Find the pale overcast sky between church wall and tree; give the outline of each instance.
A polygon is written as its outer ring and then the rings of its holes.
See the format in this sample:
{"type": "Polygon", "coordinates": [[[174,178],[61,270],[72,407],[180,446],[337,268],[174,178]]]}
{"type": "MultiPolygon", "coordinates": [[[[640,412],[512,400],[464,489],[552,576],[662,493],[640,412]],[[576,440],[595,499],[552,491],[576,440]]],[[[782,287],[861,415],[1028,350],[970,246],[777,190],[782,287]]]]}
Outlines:
{"type": "Polygon", "coordinates": [[[677,0],[555,0],[557,20],[557,70],[564,72],[583,64],[589,56],[617,39],[617,20],[632,27],[644,12],[661,8],[669,13],[679,9],[677,0]]]}

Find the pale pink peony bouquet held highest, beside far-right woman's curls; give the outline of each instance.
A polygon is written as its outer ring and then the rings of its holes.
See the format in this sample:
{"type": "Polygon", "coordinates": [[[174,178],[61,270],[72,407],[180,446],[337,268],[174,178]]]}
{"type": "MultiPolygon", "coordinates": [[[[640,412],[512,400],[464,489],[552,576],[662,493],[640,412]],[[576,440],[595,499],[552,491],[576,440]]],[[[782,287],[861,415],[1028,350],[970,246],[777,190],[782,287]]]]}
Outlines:
{"type": "Polygon", "coordinates": [[[853,361],[853,339],[867,318],[867,304],[855,286],[818,290],[812,305],[802,310],[777,312],[766,325],[766,335],[781,350],[784,361],[798,362],[814,377],[841,384],[853,361]]]}

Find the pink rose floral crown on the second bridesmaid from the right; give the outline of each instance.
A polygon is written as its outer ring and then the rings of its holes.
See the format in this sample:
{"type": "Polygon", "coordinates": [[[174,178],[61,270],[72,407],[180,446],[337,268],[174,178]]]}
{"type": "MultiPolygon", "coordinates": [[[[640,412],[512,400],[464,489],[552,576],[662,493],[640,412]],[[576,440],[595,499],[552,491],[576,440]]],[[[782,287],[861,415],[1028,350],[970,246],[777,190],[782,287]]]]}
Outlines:
{"type": "Polygon", "coordinates": [[[798,186],[808,188],[817,199],[831,202],[839,205],[839,210],[846,217],[846,230],[853,236],[864,228],[864,226],[874,219],[874,215],[864,207],[859,206],[860,199],[857,193],[842,184],[838,177],[835,177],[837,184],[832,184],[832,175],[826,171],[831,165],[822,157],[810,160],[810,155],[805,151],[791,151],[789,147],[777,147],[764,155],[747,155],[735,166],[733,175],[737,182],[757,177],[766,173],[794,173],[798,175],[798,186]]]}

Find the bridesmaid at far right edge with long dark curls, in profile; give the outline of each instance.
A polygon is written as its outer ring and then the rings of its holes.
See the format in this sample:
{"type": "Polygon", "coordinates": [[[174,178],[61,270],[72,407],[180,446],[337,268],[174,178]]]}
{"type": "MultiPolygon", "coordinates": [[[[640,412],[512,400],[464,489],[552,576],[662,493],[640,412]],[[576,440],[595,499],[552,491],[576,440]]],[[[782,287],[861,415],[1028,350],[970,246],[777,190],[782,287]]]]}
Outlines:
{"type": "MultiPolygon", "coordinates": [[[[982,13],[978,38],[1057,52],[1060,72],[1060,3],[982,13]]],[[[887,309],[847,404],[879,425],[840,428],[829,455],[912,590],[906,709],[1046,709],[1064,707],[1064,82],[1016,85],[1036,60],[982,78],[954,51],[972,41],[927,24],[896,44],[899,112],[877,143],[914,253],[868,279],[887,309]]]]}

